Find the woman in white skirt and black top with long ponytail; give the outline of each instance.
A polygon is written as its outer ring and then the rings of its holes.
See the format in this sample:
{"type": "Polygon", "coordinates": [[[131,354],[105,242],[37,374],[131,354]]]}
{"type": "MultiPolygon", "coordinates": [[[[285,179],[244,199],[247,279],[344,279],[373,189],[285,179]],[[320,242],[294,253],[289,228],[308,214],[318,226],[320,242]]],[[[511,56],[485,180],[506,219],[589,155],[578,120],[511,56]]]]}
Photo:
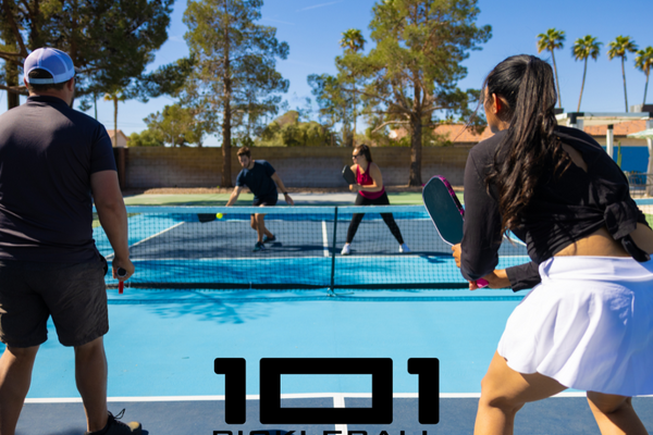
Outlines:
{"type": "Polygon", "coordinates": [[[653,232],[601,146],[557,126],[546,62],[508,58],[483,91],[495,135],[470,151],[454,257],[471,289],[534,288],[481,383],[475,434],[512,434],[526,402],[566,388],[588,391],[603,434],[646,434],[630,397],[653,394],[653,232]],[[508,231],[532,262],[495,270],[508,231]]]}

